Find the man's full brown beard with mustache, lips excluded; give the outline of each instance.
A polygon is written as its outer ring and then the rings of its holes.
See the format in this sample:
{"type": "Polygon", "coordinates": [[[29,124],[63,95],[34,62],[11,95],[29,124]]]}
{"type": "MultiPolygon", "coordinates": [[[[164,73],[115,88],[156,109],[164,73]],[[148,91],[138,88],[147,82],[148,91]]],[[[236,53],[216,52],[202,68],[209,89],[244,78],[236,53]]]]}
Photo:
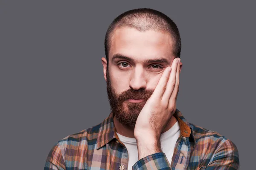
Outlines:
{"type": "Polygon", "coordinates": [[[108,69],[107,93],[113,116],[123,125],[134,128],[140,111],[143,109],[146,100],[152,95],[154,90],[141,88],[139,90],[128,89],[121,94],[117,94],[111,85],[108,69]],[[127,99],[144,99],[141,103],[131,103],[127,99]]]}

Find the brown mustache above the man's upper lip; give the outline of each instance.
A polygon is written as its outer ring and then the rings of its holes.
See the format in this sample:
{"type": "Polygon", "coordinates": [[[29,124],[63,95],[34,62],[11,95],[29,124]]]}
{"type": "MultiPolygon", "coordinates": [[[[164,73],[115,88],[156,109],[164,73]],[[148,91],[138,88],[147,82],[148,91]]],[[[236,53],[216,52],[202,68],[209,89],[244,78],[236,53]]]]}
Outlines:
{"type": "Polygon", "coordinates": [[[152,89],[139,89],[139,90],[128,89],[119,95],[118,100],[125,101],[130,98],[147,100],[152,95],[153,92],[154,90],[152,89]]]}

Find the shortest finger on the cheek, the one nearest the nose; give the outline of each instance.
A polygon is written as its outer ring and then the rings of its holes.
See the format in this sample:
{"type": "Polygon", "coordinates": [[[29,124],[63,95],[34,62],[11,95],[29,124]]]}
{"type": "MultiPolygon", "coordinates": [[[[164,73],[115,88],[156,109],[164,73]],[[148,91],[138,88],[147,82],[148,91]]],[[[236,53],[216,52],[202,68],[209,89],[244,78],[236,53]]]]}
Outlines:
{"type": "Polygon", "coordinates": [[[169,80],[171,69],[172,68],[168,66],[163,71],[163,74],[162,74],[160,80],[158,81],[158,84],[157,84],[156,88],[154,89],[152,96],[159,97],[160,99],[162,98],[163,93],[166,90],[166,84],[169,80]]]}

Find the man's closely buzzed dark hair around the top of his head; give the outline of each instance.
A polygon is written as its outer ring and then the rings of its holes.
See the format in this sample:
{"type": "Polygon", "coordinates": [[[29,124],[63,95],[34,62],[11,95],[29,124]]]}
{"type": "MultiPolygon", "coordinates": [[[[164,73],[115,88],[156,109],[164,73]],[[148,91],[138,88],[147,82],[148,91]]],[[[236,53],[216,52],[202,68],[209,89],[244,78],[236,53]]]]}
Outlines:
{"type": "Polygon", "coordinates": [[[181,39],[176,24],[168,16],[154,9],[132,9],[116,17],[108,27],[105,35],[105,55],[108,61],[111,47],[111,36],[115,29],[120,27],[135,28],[139,31],[154,30],[169,32],[173,40],[173,55],[180,58],[181,39]]]}

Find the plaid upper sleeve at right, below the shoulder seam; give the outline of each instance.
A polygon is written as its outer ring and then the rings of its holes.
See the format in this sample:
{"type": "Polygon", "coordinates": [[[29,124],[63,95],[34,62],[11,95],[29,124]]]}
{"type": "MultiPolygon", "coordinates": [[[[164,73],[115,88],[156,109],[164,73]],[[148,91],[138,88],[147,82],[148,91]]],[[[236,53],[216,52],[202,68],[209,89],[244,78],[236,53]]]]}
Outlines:
{"type": "Polygon", "coordinates": [[[239,154],[236,145],[227,139],[213,154],[202,170],[239,170],[239,154]]]}

